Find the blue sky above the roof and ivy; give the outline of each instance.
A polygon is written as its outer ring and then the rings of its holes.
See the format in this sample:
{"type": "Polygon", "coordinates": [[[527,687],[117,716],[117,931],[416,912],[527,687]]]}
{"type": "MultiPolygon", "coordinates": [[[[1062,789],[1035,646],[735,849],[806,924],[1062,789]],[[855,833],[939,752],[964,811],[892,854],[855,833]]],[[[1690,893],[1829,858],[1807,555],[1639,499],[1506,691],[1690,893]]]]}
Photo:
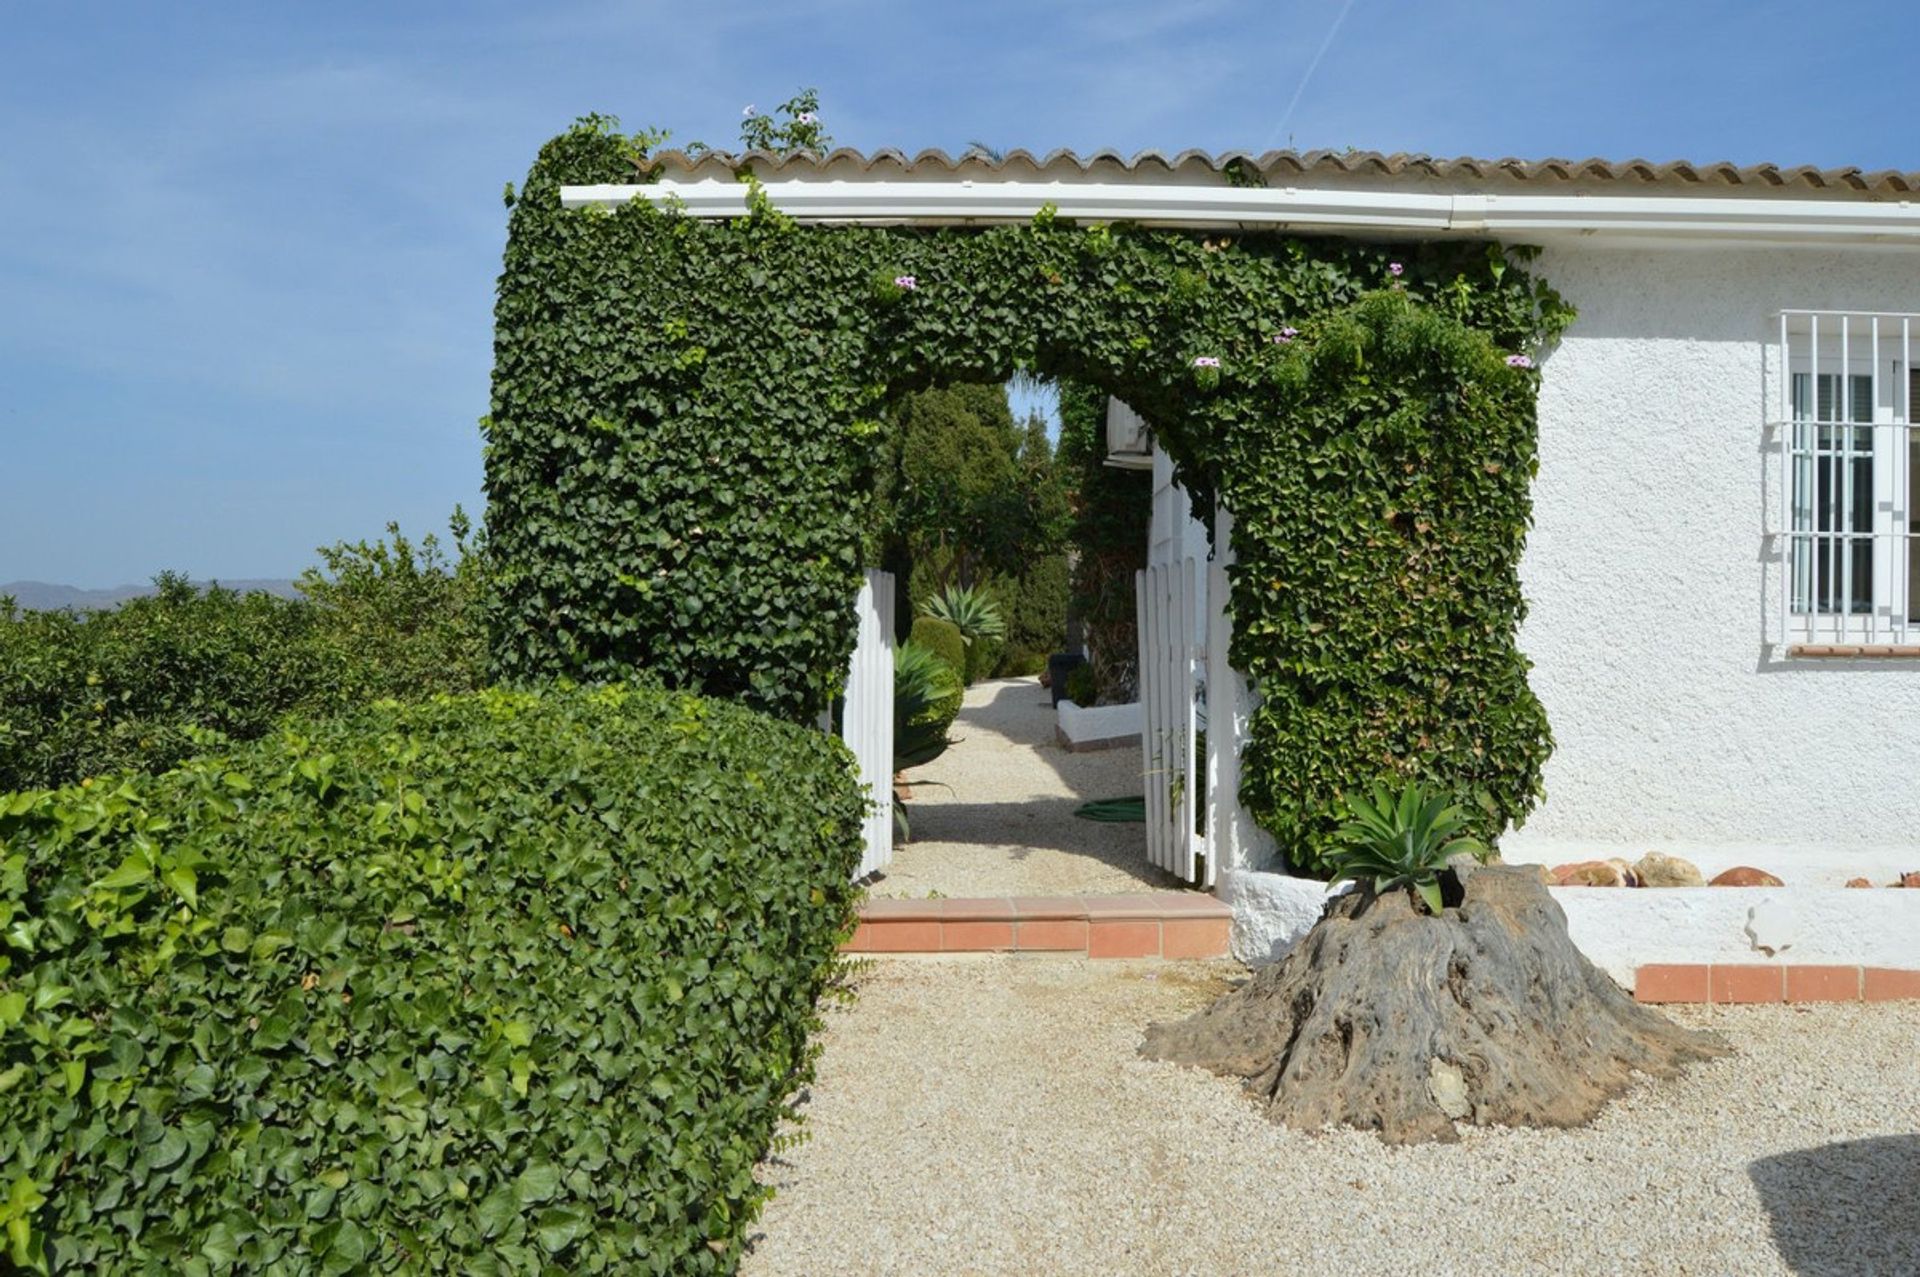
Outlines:
{"type": "Polygon", "coordinates": [[[1912,0],[0,0],[0,580],[292,576],[388,518],[478,511],[499,192],[586,111],[726,144],[741,106],[814,84],[860,148],[1920,169],[1912,0]]]}

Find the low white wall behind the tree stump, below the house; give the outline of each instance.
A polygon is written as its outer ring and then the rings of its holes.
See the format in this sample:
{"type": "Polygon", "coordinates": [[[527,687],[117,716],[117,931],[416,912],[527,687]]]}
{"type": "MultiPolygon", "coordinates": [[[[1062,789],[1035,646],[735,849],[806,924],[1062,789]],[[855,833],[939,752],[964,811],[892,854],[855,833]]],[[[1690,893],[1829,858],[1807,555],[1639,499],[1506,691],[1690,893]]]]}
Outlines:
{"type": "MultiPolygon", "coordinates": [[[[1279,962],[1346,883],[1233,870],[1233,956],[1279,962]]],[[[1920,891],[1859,887],[1549,887],[1567,933],[1628,989],[1649,962],[1807,962],[1920,970],[1920,891]]]]}

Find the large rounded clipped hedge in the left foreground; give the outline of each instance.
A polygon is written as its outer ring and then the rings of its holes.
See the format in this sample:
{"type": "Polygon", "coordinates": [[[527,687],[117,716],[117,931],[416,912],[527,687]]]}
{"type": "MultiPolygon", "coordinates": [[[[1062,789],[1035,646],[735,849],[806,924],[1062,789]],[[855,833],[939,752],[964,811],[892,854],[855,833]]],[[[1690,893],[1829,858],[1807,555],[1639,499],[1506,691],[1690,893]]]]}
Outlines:
{"type": "Polygon", "coordinates": [[[860,818],[822,734],[618,687],[0,799],[12,1264],[732,1271],[860,818]]]}

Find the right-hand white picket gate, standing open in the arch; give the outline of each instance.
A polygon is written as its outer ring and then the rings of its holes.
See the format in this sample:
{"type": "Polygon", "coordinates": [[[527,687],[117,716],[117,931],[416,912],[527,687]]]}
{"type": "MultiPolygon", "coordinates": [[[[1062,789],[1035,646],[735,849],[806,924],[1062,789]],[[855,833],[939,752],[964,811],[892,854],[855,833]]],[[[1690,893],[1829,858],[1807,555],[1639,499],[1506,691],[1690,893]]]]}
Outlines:
{"type": "Polygon", "coordinates": [[[1196,831],[1198,711],[1194,657],[1200,565],[1179,559],[1135,572],[1140,622],[1140,755],[1146,774],[1146,858],[1200,887],[1213,885],[1213,858],[1196,831]]]}

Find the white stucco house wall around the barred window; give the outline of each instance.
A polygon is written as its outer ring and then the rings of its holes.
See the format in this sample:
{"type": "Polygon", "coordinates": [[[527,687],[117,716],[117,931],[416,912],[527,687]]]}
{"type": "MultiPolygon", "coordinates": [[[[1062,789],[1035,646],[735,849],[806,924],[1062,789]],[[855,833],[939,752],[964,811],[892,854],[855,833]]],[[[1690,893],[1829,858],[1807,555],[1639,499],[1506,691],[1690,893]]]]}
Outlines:
{"type": "MultiPolygon", "coordinates": [[[[1521,645],[1553,724],[1509,860],[1920,868],[1920,661],[1784,661],[1764,363],[1782,307],[1920,311],[1916,250],[1555,248],[1521,645]]],[[[1776,338],[1774,338],[1776,342],[1776,338]]]]}

